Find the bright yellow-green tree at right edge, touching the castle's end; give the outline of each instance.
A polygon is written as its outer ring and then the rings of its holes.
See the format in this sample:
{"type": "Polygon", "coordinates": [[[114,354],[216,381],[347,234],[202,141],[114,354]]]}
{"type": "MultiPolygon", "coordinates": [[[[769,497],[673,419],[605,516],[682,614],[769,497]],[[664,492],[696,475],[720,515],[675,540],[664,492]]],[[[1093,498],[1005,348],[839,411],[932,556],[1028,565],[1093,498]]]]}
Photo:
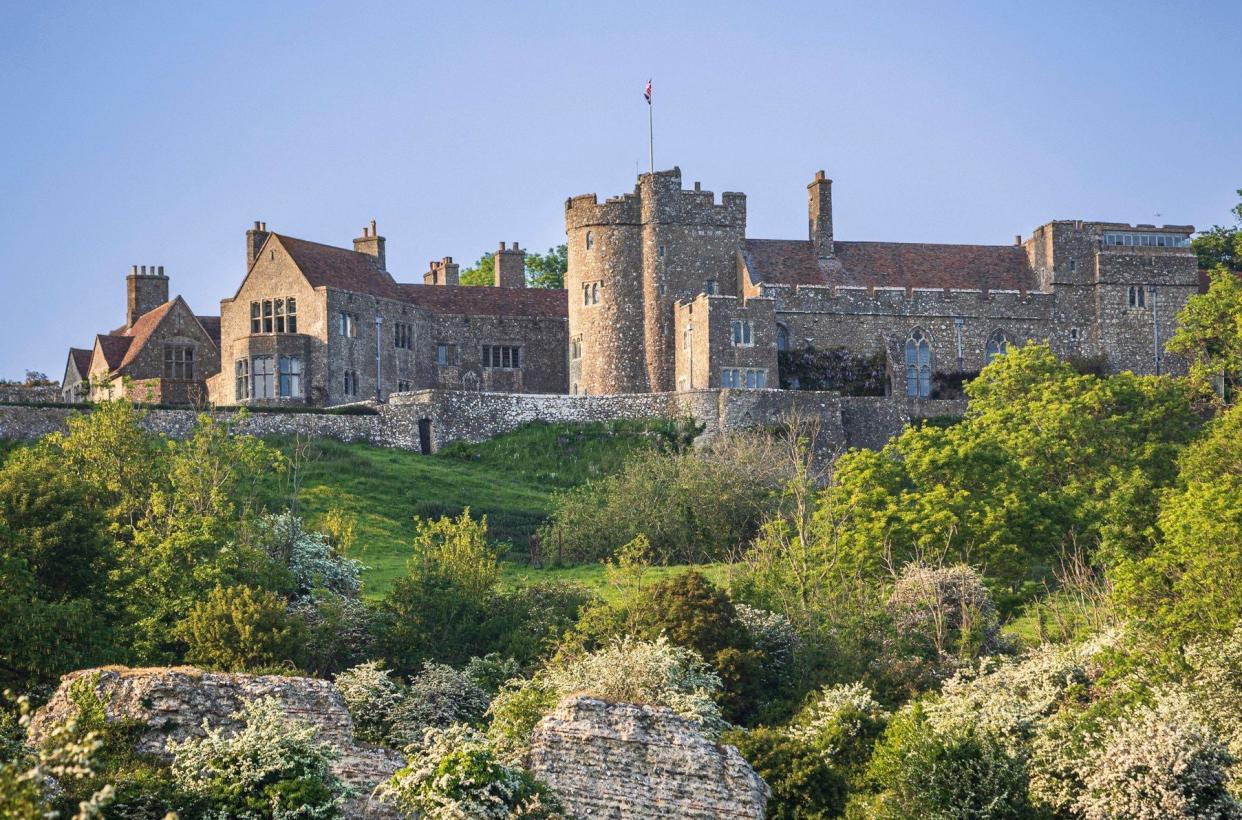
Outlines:
{"type": "Polygon", "coordinates": [[[1190,378],[1201,390],[1213,390],[1220,380],[1232,403],[1242,383],[1242,277],[1223,267],[1210,277],[1207,293],[1190,297],[1177,314],[1166,347],[1190,359],[1190,378]]]}

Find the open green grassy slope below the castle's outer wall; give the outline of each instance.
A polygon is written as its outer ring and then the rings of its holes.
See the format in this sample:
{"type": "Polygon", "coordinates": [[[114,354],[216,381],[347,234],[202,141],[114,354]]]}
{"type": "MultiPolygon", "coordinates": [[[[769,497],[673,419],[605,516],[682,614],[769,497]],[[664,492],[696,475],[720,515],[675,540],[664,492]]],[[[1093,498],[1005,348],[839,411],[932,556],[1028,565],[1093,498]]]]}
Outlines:
{"type": "MultiPolygon", "coordinates": [[[[296,494],[298,513],[310,524],[333,509],[351,516],[356,521],[351,553],[370,568],[369,595],[383,593],[405,572],[415,516],[456,516],[466,507],[474,516],[486,514],[493,537],[510,545],[514,563],[505,580],[522,583],[538,572],[524,567],[522,558],[555,493],[617,470],[637,449],[682,445],[689,435],[684,424],[668,420],[533,422],[483,444],[453,444],[432,456],[327,439],[271,439],[297,465],[297,492],[273,478],[265,502],[278,507],[296,494]]],[[[569,575],[602,583],[597,568],[578,568],[569,575]]]]}

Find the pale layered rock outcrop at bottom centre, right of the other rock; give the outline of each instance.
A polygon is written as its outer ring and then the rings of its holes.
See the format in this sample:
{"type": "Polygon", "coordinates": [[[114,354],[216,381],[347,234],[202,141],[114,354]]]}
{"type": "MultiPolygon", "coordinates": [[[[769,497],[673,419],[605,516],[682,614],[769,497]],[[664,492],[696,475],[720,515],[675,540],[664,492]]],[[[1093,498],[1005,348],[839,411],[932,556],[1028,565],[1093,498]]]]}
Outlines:
{"type": "Polygon", "coordinates": [[[571,696],[535,727],[532,774],[568,813],[594,818],[760,820],[769,789],[735,748],[662,707],[571,696]]]}

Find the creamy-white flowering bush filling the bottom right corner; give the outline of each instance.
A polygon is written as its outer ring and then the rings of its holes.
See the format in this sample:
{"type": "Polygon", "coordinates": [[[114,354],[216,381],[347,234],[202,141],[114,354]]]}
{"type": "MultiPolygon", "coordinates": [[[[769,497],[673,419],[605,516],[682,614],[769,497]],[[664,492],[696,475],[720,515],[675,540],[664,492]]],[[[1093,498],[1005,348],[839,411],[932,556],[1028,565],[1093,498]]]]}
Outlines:
{"type": "Polygon", "coordinates": [[[1161,692],[1109,728],[1088,753],[1076,809],[1084,820],[1235,820],[1232,759],[1182,692],[1161,692]]]}

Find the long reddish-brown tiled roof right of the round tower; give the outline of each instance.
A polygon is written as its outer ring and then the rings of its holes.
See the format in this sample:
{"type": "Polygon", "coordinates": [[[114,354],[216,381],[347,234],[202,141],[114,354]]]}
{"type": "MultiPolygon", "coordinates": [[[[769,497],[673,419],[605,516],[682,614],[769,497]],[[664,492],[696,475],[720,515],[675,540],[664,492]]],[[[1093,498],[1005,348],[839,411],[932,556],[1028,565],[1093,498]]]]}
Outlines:
{"type": "Polygon", "coordinates": [[[1026,251],[1016,245],[835,242],[822,262],[809,240],[746,240],[746,266],[758,282],[1036,289],[1026,251]]]}

